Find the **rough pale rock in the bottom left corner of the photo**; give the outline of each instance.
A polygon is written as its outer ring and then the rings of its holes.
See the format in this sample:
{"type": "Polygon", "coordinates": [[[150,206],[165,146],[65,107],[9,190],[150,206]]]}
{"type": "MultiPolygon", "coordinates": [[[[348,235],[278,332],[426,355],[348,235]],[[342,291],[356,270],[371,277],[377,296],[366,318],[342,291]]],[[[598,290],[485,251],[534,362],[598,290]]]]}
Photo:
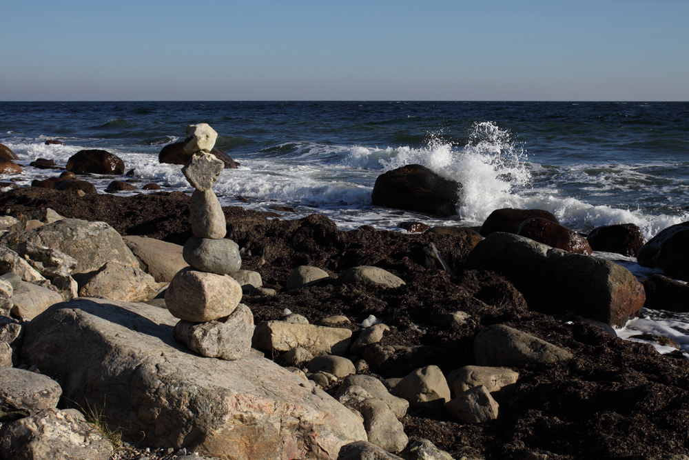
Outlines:
{"type": "Polygon", "coordinates": [[[0,450],[6,459],[107,460],[110,441],[76,409],[45,409],[3,426],[0,450]]]}

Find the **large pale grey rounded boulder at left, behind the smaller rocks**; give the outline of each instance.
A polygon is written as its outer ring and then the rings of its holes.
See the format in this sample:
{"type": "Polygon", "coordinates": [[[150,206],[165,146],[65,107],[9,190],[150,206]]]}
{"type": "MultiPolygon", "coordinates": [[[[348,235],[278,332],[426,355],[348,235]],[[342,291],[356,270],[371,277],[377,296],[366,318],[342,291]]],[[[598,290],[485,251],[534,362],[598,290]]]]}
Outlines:
{"type": "Polygon", "coordinates": [[[77,263],[72,274],[98,270],[111,260],[138,267],[138,259],[120,234],[105,222],[62,219],[40,228],[17,232],[16,238],[17,243],[30,241],[74,257],[77,263]]]}

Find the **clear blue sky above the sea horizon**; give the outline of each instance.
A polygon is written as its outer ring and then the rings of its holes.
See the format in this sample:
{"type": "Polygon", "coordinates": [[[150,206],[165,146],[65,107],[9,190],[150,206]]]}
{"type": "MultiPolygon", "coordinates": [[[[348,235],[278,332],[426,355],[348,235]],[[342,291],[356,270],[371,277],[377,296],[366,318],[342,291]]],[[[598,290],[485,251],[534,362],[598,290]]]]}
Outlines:
{"type": "Polygon", "coordinates": [[[689,101],[689,0],[3,2],[0,101],[689,101]]]}

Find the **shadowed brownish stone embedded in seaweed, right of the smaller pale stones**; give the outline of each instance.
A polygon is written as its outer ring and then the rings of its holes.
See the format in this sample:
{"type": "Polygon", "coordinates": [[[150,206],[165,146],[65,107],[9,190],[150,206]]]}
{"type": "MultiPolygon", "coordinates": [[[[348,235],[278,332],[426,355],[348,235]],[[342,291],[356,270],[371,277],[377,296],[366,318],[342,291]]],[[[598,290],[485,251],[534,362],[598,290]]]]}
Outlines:
{"type": "Polygon", "coordinates": [[[503,324],[490,326],[476,334],[473,348],[477,366],[547,364],[573,357],[567,350],[503,324]]]}

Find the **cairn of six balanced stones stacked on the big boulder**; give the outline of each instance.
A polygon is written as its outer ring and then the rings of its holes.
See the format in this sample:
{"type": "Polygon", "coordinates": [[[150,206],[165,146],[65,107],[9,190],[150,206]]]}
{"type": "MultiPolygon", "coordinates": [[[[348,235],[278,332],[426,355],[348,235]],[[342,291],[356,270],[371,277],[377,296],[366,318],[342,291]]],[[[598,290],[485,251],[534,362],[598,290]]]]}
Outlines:
{"type": "Polygon", "coordinates": [[[225,239],[225,214],[212,190],[225,167],[210,153],[216,137],[206,123],[187,127],[184,149],[192,157],[182,172],[195,189],[189,204],[194,236],[182,252],[189,267],[170,281],[165,304],[181,319],[175,339],[203,356],[232,361],[249,353],[254,317],[240,303],[241,286],[229,277],[242,261],[237,244],[225,239]]]}

